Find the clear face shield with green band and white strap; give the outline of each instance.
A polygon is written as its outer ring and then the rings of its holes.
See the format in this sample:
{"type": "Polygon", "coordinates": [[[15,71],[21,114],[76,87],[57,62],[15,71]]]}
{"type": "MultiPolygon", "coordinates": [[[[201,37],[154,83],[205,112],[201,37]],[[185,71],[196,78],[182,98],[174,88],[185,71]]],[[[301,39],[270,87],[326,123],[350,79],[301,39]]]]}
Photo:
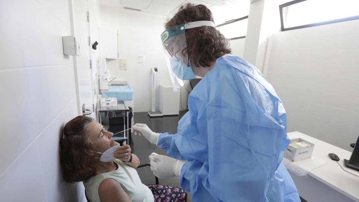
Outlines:
{"type": "Polygon", "coordinates": [[[189,22],[170,27],[161,34],[169,77],[175,92],[182,91],[188,86],[190,79],[196,78],[184,49],[187,47],[186,29],[201,26],[214,27],[214,23],[212,21],[189,22]]]}

